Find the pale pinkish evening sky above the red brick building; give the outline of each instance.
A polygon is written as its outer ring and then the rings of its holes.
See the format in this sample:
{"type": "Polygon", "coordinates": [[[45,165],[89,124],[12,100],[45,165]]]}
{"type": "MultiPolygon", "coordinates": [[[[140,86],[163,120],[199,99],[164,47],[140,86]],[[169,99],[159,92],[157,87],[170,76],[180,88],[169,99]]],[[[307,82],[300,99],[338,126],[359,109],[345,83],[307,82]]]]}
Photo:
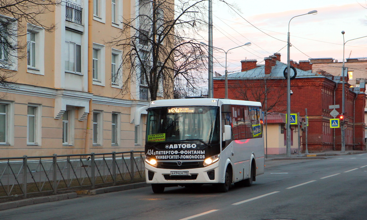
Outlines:
{"type": "MultiPolygon", "coordinates": [[[[333,58],[342,62],[345,41],[367,36],[367,0],[227,0],[239,14],[213,0],[213,46],[227,51],[247,42],[250,46],[232,49],[227,70],[237,72],[241,60],[264,58],[276,52],[287,63],[288,22],[294,16],[317,10],[290,22],[290,59],[333,58]]],[[[207,40],[207,39],[206,39],[207,40]]],[[[367,37],[345,44],[345,58],[367,58],[367,37]]],[[[214,71],[224,74],[225,53],[214,51],[214,71]]]]}

